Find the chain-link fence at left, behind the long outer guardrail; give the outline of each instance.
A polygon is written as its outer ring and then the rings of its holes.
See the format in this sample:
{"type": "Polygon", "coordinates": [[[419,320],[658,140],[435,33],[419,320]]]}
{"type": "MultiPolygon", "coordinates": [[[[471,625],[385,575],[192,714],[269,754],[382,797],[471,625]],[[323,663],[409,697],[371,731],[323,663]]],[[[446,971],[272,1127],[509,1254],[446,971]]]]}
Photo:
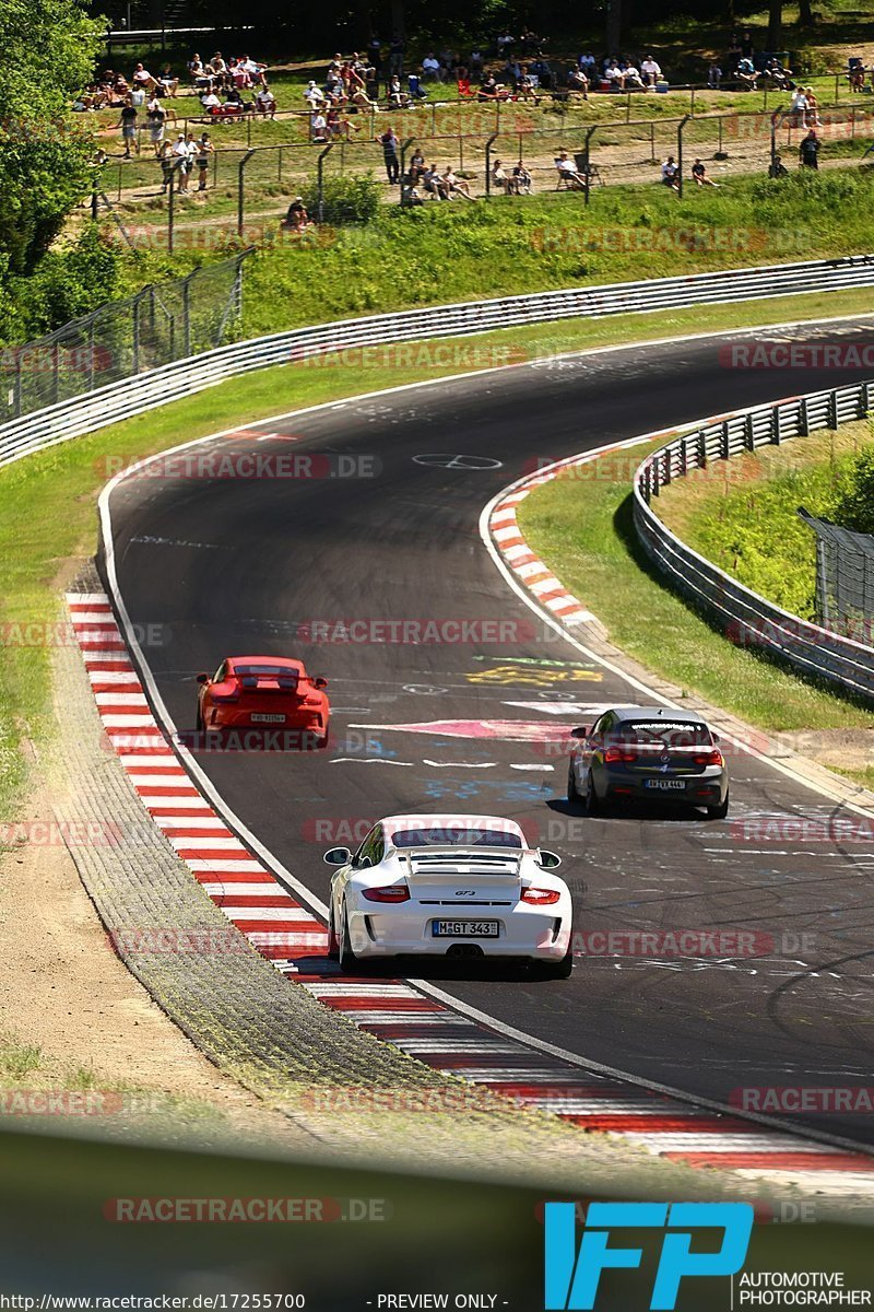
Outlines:
{"type": "Polygon", "coordinates": [[[0,422],[233,340],[250,251],[0,348],[0,422]]]}

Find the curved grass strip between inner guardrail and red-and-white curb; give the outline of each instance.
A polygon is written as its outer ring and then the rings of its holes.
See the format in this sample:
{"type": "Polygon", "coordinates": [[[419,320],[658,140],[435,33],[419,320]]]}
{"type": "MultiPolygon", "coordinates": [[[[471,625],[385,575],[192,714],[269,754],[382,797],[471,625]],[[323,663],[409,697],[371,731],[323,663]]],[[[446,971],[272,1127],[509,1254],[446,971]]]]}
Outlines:
{"type": "MultiPolygon", "coordinates": [[[[663,440],[636,447],[642,461],[663,440]]],[[[651,569],[632,522],[628,453],[537,488],[519,522],[562,584],[647,669],[765,731],[856,728],[871,712],[734,647],[651,569]]]]}

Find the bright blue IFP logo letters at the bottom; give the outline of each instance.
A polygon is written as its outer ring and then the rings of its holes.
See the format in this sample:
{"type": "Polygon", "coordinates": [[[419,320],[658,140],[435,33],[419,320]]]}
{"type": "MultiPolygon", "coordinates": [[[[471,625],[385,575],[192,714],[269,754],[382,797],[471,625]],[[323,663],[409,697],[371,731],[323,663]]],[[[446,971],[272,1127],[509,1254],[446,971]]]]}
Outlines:
{"type": "Polygon", "coordinates": [[[641,1265],[642,1248],[608,1248],[615,1229],[667,1231],[649,1307],[650,1312],[672,1312],[684,1277],[740,1270],[753,1210],[752,1203],[590,1203],[579,1253],[575,1218],[573,1203],[546,1203],[544,1208],[546,1312],[591,1312],[601,1271],[641,1265]],[[692,1252],[698,1229],[722,1232],[717,1252],[692,1252]]]}

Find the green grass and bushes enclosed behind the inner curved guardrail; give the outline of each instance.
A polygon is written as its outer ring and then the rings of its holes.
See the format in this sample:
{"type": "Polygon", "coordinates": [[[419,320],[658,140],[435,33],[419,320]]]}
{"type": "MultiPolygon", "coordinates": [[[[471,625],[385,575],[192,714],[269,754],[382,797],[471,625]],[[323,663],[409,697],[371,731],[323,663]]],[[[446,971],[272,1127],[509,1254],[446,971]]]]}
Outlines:
{"type": "Polygon", "coordinates": [[[803,619],[815,619],[816,538],[798,516],[833,517],[869,422],[696,470],[664,488],[659,516],[700,555],[803,619]],[[725,476],[723,476],[725,475],[725,476]]]}

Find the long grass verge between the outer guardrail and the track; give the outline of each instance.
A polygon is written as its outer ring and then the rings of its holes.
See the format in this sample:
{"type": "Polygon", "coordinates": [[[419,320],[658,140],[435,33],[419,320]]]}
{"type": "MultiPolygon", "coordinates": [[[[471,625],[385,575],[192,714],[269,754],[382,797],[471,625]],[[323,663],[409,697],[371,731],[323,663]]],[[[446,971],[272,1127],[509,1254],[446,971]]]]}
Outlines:
{"type": "MultiPolygon", "coordinates": [[[[447,371],[506,363],[563,350],[612,345],[688,332],[753,327],[781,315],[816,318],[861,314],[870,293],[816,294],[786,302],[747,302],[656,315],[569,320],[455,340],[455,363],[440,356],[443,342],[411,349],[411,362],[379,354],[321,367],[280,366],[235,379],[187,400],[174,401],[123,424],[29,457],[0,471],[0,622],[54,625],[60,615],[59,576],[69,562],[94,551],[94,504],[114,467],[178,442],[334,398],[439,377],[447,371]],[[431,356],[431,348],[436,348],[431,356]],[[436,363],[428,367],[428,359],[436,363]]],[[[583,593],[584,594],[584,593],[583,593]]],[[[28,786],[22,740],[51,740],[51,661],[48,646],[7,642],[0,663],[0,817],[12,819],[28,786]]],[[[677,673],[679,677],[679,673],[677,673]]],[[[773,673],[769,674],[773,680],[773,673]]],[[[764,673],[761,674],[764,680],[764,673]]],[[[807,720],[805,719],[805,723],[807,720]]]]}

